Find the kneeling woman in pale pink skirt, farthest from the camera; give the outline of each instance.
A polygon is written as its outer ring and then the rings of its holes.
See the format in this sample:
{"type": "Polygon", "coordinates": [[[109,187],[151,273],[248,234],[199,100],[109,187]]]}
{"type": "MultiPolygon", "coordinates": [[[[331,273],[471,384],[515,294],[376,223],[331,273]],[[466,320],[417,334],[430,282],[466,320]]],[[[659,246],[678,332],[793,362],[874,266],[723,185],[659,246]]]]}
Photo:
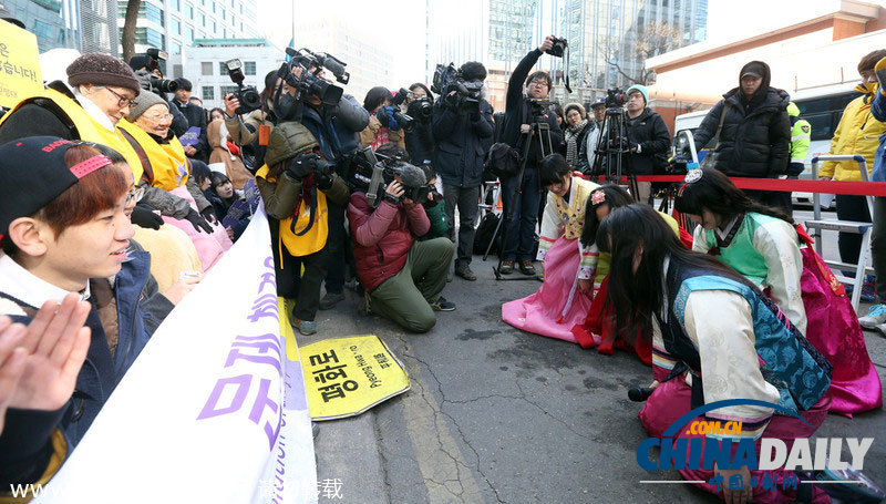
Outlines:
{"type": "MultiPolygon", "coordinates": [[[[559,154],[542,160],[539,177],[548,189],[537,256],[544,260],[545,280],[534,295],[502,305],[502,319],[517,329],[579,342],[571,328],[590,308],[597,249],[583,247],[578,237],[585,202],[598,186],[574,177],[559,154]]],[[[593,344],[593,339],[581,341],[585,348],[593,344]]]]}

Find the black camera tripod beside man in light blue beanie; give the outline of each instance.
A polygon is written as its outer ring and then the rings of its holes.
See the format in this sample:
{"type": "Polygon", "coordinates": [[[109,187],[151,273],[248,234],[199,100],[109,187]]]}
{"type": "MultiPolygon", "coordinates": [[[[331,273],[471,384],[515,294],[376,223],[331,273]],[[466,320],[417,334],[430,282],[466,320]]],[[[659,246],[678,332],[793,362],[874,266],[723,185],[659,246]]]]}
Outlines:
{"type": "Polygon", "coordinates": [[[594,157],[591,173],[601,175],[604,173],[602,164],[606,163],[606,182],[620,184],[621,177],[627,176],[628,191],[633,196],[633,199],[639,202],[640,193],[637,186],[637,174],[630,164],[629,153],[627,112],[620,106],[606,109],[606,116],[602,120],[600,133],[597,137],[597,150],[595,151],[596,156],[594,157]]]}

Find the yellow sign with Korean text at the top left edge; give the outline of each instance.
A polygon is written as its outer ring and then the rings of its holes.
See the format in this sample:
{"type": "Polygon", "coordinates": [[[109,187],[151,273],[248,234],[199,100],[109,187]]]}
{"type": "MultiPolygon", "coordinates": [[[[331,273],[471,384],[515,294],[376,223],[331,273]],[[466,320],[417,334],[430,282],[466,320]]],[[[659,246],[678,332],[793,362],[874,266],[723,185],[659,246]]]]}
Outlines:
{"type": "Polygon", "coordinates": [[[12,109],[43,91],[39,55],[33,33],[0,22],[0,105],[12,109]]]}

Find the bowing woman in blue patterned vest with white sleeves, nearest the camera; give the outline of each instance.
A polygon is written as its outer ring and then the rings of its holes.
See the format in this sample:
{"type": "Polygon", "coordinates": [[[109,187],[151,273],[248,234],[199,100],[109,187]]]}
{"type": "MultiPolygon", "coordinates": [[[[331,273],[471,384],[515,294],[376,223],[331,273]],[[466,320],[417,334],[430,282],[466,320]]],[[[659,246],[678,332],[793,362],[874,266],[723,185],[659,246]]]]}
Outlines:
{"type": "MultiPolygon", "coordinates": [[[[781,438],[790,448],[793,439],[811,435],[826,416],[831,364],[810,346],[779,308],[752,282],[704,254],[688,250],[652,208],[633,204],[612,212],[600,224],[597,244],[611,254],[606,302],[615,313],[612,323],[656,338],[686,367],[686,372],[660,384],[640,414],[651,436],[660,436],[671,423],[694,408],[724,400],[755,400],[797,412],[773,415],[773,408],[739,403],[704,413],[707,420],[739,421],[741,434],[732,439],[781,438]],[[824,398],[824,400],[823,400],[824,398]],[[807,422],[807,423],[806,423],[807,422]]],[[[689,438],[679,429],[678,438],[689,438]]],[[[705,439],[702,442],[717,442],[705,439]]],[[[733,443],[733,454],[735,445],[733,443]]],[[[730,457],[731,459],[731,457],[730,457]]],[[[694,485],[721,494],[707,483],[721,473],[723,482],[741,474],[775,477],[783,471],[681,470],[694,485]]],[[[787,485],[785,485],[787,486],[787,485]]],[[[805,485],[800,485],[804,487],[805,485]]],[[[814,497],[827,497],[812,488],[814,497]]],[[[791,488],[762,486],[733,491],[723,485],[727,502],[787,502],[791,488]],[[753,492],[753,495],[751,495],[753,492]]],[[[817,498],[816,501],[817,502],[817,498]]]]}

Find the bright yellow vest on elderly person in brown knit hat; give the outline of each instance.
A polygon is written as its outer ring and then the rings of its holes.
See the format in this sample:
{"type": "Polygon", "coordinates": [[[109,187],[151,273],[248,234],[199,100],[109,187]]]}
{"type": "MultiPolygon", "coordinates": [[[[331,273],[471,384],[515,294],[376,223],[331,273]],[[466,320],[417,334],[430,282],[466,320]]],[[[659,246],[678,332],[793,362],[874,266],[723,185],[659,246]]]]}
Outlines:
{"type": "MultiPolygon", "coordinates": [[[[138,183],[138,179],[142,178],[142,162],[138,160],[138,155],[135,153],[135,150],[132,148],[132,145],[126,141],[120,130],[114,128],[114,131],[107,131],[104,126],[99,124],[94,119],[86,113],[83,107],[76,103],[74,100],[71,100],[63,93],[60,93],[55,90],[47,89],[43,92],[28,96],[27,99],[19,102],[11,112],[7,113],[2,119],[0,119],[0,124],[3,123],[4,120],[9,119],[12,114],[16,113],[22,105],[27,103],[31,103],[37,99],[47,99],[50,100],[52,103],[59,106],[62,112],[68,115],[71,122],[76,127],[78,135],[80,140],[84,142],[93,142],[96,144],[106,145],[114,151],[119,152],[126,158],[126,163],[130,165],[130,169],[132,169],[132,174],[135,177],[135,183],[138,183]]],[[[122,123],[123,121],[121,121],[122,123]]]]}

